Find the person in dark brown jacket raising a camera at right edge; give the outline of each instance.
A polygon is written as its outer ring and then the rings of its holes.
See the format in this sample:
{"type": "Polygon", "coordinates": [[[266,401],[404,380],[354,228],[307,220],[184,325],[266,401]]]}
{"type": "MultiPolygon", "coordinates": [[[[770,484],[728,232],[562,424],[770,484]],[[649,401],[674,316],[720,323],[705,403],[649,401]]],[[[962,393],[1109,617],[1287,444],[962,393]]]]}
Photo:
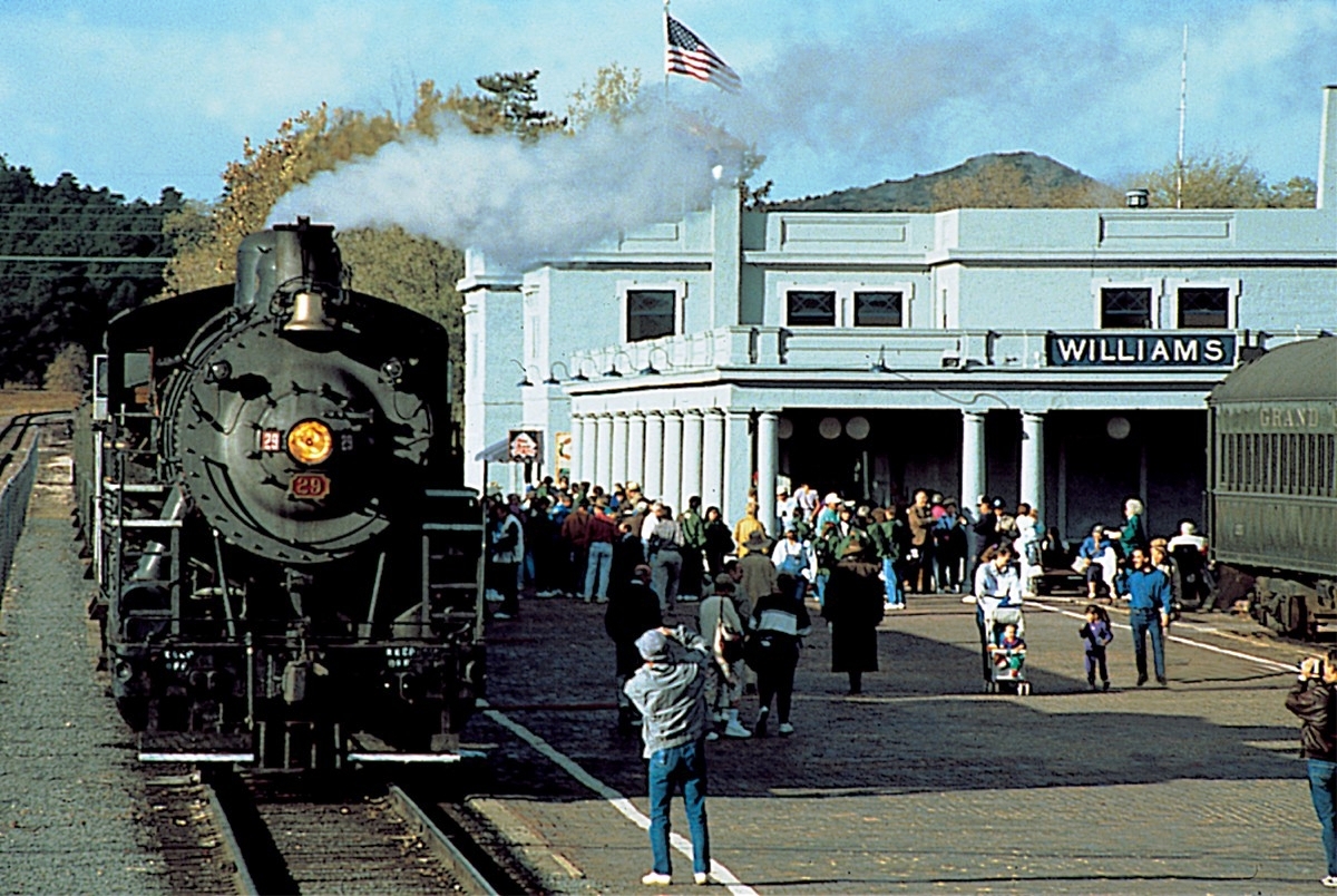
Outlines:
{"type": "Polygon", "coordinates": [[[1324,828],[1328,873],[1324,887],[1337,888],[1337,738],[1333,727],[1333,691],[1337,685],[1337,650],[1309,657],[1300,663],[1300,681],[1286,694],[1286,709],[1300,717],[1300,754],[1309,765],[1309,796],[1324,828]]]}

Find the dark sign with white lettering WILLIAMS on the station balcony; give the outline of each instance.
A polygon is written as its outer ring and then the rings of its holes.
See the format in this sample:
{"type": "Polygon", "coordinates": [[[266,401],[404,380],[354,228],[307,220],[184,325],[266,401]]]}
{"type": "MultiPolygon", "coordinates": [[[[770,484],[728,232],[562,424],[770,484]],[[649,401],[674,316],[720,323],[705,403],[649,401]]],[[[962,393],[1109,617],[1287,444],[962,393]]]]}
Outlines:
{"type": "Polygon", "coordinates": [[[1235,336],[1175,333],[1050,333],[1051,366],[1229,366],[1235,362],[1235,336]]]}

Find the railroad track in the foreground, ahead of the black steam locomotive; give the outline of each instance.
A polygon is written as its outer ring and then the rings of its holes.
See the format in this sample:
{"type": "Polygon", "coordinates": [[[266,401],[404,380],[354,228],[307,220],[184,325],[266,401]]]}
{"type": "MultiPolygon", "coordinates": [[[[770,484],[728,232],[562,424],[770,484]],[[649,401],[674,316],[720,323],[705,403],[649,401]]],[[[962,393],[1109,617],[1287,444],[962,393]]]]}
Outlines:
{"type": "Polygon", "coordinates": [[[517,863],[473,841],[429,788],[364,777],[160,778],[151,809],[175,891],[536,893],[517,863]],[[174,867],[172,867],[174,865],[174,867]]]}

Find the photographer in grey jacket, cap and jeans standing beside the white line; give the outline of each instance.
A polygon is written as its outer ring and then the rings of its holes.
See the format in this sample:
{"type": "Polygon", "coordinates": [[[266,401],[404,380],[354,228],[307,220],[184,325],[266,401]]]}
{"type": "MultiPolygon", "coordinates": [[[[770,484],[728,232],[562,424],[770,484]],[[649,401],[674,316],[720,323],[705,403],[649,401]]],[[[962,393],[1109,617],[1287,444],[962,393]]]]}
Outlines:
{"type": "Polygon", "coordinates": [[[691,828],[693,872],[710,883],[710,832],[706,828],[706,698],[710,645],[685,626],[651,629],[636,639],[646,663],[623,686],[640,713],[643,756],[650,760],[650,849],[654,868],[640,883],[673,883],[668,853],[668,805],[682,785],[691,828]]]}

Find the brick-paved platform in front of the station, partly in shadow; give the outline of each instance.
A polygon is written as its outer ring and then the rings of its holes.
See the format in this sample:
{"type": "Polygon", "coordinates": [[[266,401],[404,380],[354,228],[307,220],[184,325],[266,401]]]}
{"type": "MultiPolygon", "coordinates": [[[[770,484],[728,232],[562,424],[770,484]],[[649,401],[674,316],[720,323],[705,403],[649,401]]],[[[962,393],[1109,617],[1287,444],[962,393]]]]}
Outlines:
{"type": "MultiPolygon", "coordinates": [[[[602,611],[524,602],[519,621],[492,627],[489,697],[644,813],[639,742],[614,732],[602,611]]],[[[715,860],[762,893],[1317,889],[1318,829],[1282,706],[1289,674],[1173,643],[1171,686],[1135,689],[1119,629],[1114,690],[1091,694],[1079,622],[1032,607],[1035,694],[985,695],[971,614],[955,598],[924,598],[889,615],[882,671],[860,698],[828,671],[818,622],[798,673],[798,733],[710,748],[715,860]]],[[[1270,638],[1175,634],[1278,662],[1300,655],[1270,638]]],[[[643,889],[642,829],[511,730],[479,718],[468,734],[495,744],[476,805],[555,892],[643,889]]],[[[674,830],[686,833],[678,804],[674,830]]],[[[674,867],[690,881],[685,857],[674,867]]]]}

